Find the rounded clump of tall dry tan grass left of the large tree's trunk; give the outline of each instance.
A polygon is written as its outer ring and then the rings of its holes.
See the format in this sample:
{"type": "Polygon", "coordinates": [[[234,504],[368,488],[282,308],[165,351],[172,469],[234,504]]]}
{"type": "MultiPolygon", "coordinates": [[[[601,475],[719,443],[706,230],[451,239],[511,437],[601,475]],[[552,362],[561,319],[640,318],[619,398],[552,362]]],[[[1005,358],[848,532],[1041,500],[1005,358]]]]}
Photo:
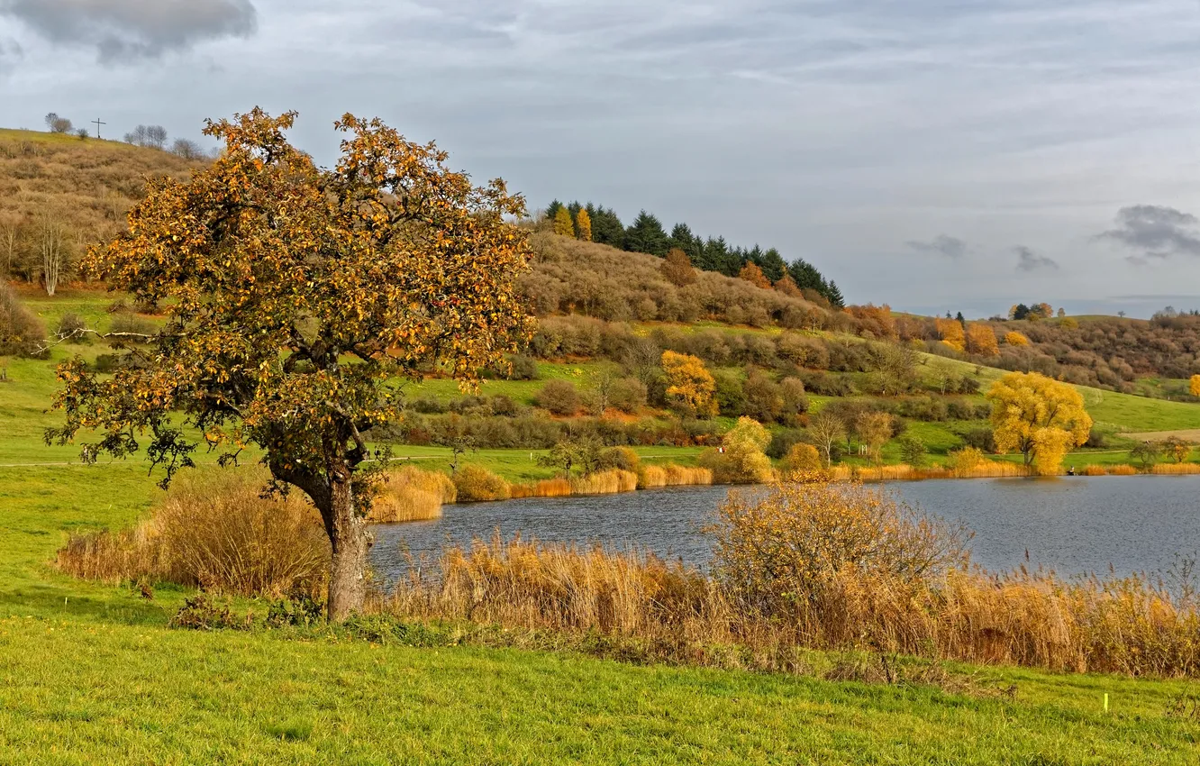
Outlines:
{"type": "Polygon", "coordinates": [[[329,571],[320,516],[295,495],[262,497],[257,473],[178,479],[137,528],[72,535],[56,558],[78,578],[162,580],[242,596],[319,596],[329,571]]]}

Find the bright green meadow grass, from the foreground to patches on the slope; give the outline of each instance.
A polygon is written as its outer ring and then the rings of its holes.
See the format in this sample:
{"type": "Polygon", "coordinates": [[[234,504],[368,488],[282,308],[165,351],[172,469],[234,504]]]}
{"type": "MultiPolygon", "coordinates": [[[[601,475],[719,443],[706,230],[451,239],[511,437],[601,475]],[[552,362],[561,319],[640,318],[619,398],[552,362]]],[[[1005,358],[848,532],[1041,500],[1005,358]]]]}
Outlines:
{"type": "MultiPolygon", "coordinates": [[[[103,327],[112,301],[90,292],[23,297],[52,328],[67,311],[103,327]]],[[[59,347],[53,357],[76,352],[94,358],[104,349],[59,347]]],[[[931,364],[942,361],[949,363],[931,364]]],[[[452,629],[414,630],[407,640],[330,629],[172,629],[185,590],[157,586],[148,599],[53,568],[68,533],[128,527],[161,492],[144,462],[82,466],[74,448],[46,447],[42,429],[56,418],[46,413],[53,361],[5,364],[0,764],[1182,766],[1200,748],[1200,693],[1183,681],[947,664],[955,683],[864,683],[827,680],[840,658],[818,652],[810,672],[779,675],[637,665],[517,640],[488,647],[452,629]]],[[[542,381],[486,387],[528,402],[545,379],[587,381],[593,369],[542,365],[542,381]]],[[[457,395],[446,381],[413,389],[457,395]]],[[[1200,407],[1085,395],[1093,415],[1116,427],[1200,426],[1200,407]]],[[[910,432],[940,453],[956,445],[952,425],[913,423],[910,432]]],[[[442,448],[396,451],[427,468],[450,459],[442,448]]],[[[690,465],[700,450],[638,451],[652,463],[690,465]]],[[[896,459],[896,447],[886,455],[896,459]]],[[[553,473],[529,450],[461,460],[514,481],[553,473]]],[[[216,469],[203,456],[202,463],[216,469]]],[[[266,605],[235,599],[230,608],[262,615],[266,605]]]]}

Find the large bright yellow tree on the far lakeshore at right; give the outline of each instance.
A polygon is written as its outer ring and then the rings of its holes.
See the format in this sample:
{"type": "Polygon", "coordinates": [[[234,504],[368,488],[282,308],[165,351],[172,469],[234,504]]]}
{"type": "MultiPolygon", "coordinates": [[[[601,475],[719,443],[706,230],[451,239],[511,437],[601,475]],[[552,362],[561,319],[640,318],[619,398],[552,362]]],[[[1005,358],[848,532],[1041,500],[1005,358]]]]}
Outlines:
{"type": "Polygon", "coordinates": [[[1038,372],[1010,372],[988,391],[996,449],[1016,450],[1042,475],[1057,472],[1063,455],[1087,441],[1092,418],[1074,387],[1038,372]]]}

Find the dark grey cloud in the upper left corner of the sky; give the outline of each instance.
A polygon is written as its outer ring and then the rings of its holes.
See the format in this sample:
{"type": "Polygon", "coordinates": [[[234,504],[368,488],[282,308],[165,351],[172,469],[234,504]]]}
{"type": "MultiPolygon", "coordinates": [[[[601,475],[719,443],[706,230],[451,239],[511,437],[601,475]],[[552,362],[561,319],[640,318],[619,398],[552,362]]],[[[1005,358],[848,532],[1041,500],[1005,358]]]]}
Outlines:
{"type": "Polygon", "coordinates": [[[250,0],[0,0],[0,16],[53,43],[94,47],[104,62],[246,37],[258,25],[250,0]]]}

